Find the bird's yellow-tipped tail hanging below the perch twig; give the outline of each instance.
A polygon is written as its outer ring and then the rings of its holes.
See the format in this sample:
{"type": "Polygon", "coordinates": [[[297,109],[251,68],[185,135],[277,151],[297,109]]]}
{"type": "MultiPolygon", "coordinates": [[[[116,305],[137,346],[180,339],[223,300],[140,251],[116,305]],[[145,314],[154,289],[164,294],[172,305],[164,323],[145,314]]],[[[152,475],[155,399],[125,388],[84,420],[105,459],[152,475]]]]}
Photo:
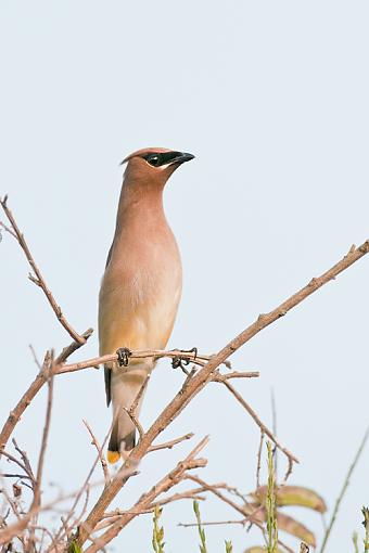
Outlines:
{"type": "MultiPolygon", "coordinates": [[[[113,403],[113,426],[107,446],[107,461],[116,463],[120,459],[120,452],[130,451],[136,446],[136,426],[125,409],[130,409],[141,387],[144,385],[148,373],[147,366],[132,366],[126,372],[112,371],[111,397],[113,403]]],[[[140,397],[133,416],[137,419],[143,398],[140,397]]]]}

